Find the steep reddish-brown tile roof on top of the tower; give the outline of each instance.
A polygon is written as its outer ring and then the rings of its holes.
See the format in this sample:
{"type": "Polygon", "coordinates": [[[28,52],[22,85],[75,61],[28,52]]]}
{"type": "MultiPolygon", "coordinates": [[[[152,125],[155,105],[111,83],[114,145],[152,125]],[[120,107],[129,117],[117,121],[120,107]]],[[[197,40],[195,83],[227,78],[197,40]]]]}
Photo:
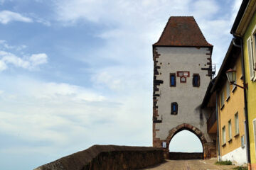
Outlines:
{"type": "Polygon", "coordinates": [[[171,16],[154,46],[213,47],[206,41],[193,16],[171,16]]]}

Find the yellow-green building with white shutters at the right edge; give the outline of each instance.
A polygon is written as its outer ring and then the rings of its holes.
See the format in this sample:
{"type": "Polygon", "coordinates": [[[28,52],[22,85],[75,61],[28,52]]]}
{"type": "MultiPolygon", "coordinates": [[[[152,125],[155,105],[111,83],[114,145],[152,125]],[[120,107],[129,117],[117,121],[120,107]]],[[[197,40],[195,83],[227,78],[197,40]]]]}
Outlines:
{"type": "Polygon", "coordinates": [[[245,84],[247,84],[245,115],[248,128],[249,169],[256,169],[256,0],[242,1],[238,16],[235,18],[231,33],[242,40],[245,84]],[[247,109],[246,109],[247,108],[247,109]]]}

